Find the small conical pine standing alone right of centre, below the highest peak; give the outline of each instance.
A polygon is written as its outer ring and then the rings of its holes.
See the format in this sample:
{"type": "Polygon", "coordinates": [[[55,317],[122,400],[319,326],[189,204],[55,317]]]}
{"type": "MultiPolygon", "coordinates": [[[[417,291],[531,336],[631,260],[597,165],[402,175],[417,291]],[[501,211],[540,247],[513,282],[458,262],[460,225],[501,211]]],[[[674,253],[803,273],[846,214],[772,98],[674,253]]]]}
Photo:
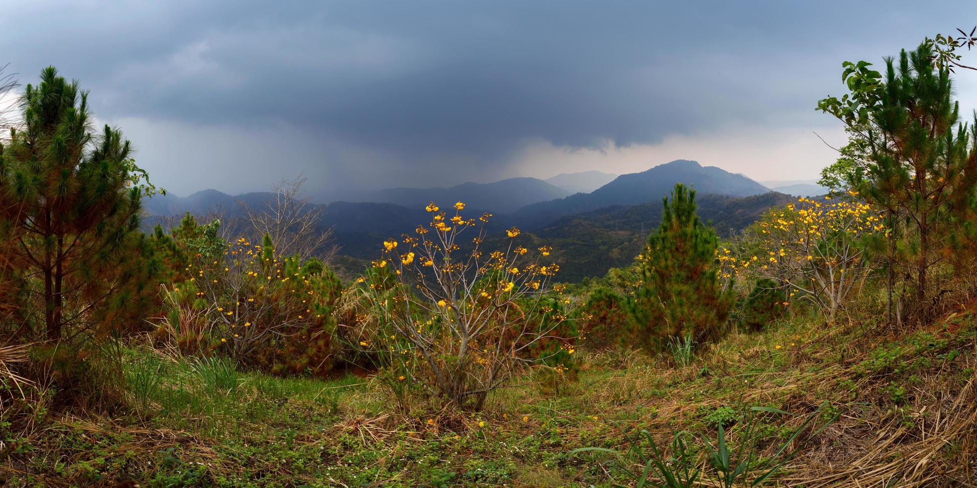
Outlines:
{"type": "Polygon", "coordinates": [[[663,204],[658,231],[639,257],[641,281],[627,302],[635,339],[643,346],[687,333],[697,342],[716,339],[733,300],[718,277],[718,239],[696,215],[695,190],[676,184],[663,204]]]}

